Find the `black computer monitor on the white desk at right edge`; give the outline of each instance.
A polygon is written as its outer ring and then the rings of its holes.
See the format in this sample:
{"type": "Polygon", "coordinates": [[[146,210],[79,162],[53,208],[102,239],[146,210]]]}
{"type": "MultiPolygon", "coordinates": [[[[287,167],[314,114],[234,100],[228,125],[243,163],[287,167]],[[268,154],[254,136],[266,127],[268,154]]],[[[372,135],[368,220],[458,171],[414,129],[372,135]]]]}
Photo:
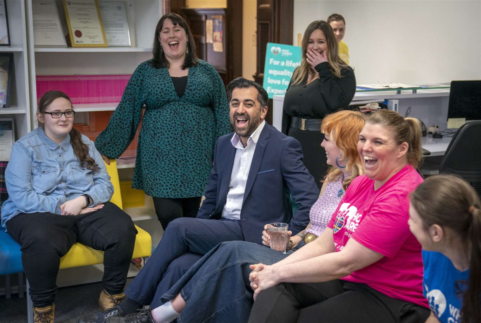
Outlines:
{"type": "Polygon", "coordinates": [[[481,80],[452,81],[449,93],[448,119],[481,120],[481,80]]]}

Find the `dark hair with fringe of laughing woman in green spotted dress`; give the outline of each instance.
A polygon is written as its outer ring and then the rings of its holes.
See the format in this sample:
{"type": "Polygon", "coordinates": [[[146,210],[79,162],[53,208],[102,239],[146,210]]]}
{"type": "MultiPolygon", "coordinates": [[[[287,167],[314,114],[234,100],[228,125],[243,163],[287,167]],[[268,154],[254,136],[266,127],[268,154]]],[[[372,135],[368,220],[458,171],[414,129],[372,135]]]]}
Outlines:
{"type": "Polygon", "coordinates": [[[199,63],[199,59],[197,58],[197,54],[195,51],[195,43],[194,43],[194,37],[192,37],[192,32],[190,31],[189,25],[187,25],[187,22],[185,21],[184,18],[179,16],[177,13],[166,13],[163,15],[159,22],[157,23],[157,26],[155,27],[155,34],[153,36],[153,50],[152,50],[152,55],[153,59],[151,61],[152,66],[155,68],[164,68],[164,67],[169,67],[169,62],[165,58],[165,53],[162,50],[162,46],[160,44],[159,40],[159,35],[160,31],[162,30],[162,26],[164,25],[164,20],[165,19],[170,19],[172,24],[175,26],[178,25],[185,30],[185,34],[187,36],[187,50],[188,53],[185,54],[185,60],[184,64],[182,65],[182,69],[186,69],[192,66],[195,66],[199,63]]]}

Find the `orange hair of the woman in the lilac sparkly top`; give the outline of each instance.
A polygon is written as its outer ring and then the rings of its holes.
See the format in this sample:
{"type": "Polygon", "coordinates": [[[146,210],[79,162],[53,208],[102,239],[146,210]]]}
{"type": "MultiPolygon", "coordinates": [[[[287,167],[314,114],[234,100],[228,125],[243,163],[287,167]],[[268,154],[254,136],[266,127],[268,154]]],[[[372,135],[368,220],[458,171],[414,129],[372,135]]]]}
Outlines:
{"type": "MultiPolygon", "coordinates": [[[[364,174],[361,157],[357,153],[357,141],[365,121],[366,116],[363,113],[349,110],[331,113],[322,119],[321,132],[331,137],[337,148],[341,150],[342,159],[348,160],[346,168],[351,174],[342,184],[344,190],[354,178],[364,174]]],[[[340,174],[342,171],[339,168],[331,167],[323,182],[334,180],[340,174]]]]}

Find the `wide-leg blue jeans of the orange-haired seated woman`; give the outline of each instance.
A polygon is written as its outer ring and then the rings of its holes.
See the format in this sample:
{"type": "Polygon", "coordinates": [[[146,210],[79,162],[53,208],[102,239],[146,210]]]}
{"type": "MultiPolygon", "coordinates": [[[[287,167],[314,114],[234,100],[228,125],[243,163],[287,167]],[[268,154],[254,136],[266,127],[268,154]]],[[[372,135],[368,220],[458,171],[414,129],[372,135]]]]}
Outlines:
{"type": "Polygon", "coordinates": [[[162,301],[180,292],[186,308],[178,323],[247,322],[253,304],[249,265],[270,265],[287,256],[250,242],[222,242],[197,261],[162,301]]]}

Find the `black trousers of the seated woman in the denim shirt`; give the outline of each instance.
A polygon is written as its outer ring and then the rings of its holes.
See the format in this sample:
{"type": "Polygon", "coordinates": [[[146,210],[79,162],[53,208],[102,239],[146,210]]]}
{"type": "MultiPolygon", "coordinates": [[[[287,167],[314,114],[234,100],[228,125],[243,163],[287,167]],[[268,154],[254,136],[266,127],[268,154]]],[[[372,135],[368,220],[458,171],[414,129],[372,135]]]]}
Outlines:
{"type": "Polygon", "coordinates": [[[20,213],[7,221],[7,232],[22,250],[22,264],[36,307],[55,299],[60,258],[80,242],[103,250],[103,287],[121,293],[134,251],[137,230],[130,216],[114,203],[90,213],[66,216],[52,213],[20,213]]]}

